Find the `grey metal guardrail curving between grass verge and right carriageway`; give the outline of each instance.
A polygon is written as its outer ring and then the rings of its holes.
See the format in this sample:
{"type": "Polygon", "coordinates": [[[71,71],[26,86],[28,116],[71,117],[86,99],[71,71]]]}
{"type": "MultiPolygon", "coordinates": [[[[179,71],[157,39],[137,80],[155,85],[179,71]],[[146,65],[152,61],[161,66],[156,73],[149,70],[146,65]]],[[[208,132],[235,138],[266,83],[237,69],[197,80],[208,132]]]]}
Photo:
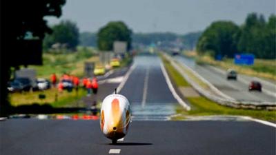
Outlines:
{"type": "Polygon", "coordinates": [[[235,108],[242,108],[242,109],[254,109],[254,110],[276,110],[276,103],[270,103],[270,102],[256,102],[256,101],[237,101],[230,96],[227,96],[226,94],[223,94],[217,88],[212,85],[210,82],[208,82],[206,79],[204,79],[202,76],[197,74],[194,70],[189,68],[187,65],[182,65],[182,67],[186,68],[190,72],[192,72],[195,76],[197,76],[198,79],[200,79],[203,83],[208,85],[210,90],[213,90],[215,93],[211,93],[208,90],[204,90],[203,87],[201,87],[198,83],[196,83],[193,79],[188,76],[184,70],[177,64],[177,62],[172,59],[168,54],[164,54],[166,59],[170,61],[172,66],[181,74],[181,76],[190,83],[194,87],[199,94],[202,96],[205,96],[207,99],[210,99],[211,101],[215,101],[216,103],[219,103],[220,105],[225,105],[228,107],[235,107],[235,108]]]}

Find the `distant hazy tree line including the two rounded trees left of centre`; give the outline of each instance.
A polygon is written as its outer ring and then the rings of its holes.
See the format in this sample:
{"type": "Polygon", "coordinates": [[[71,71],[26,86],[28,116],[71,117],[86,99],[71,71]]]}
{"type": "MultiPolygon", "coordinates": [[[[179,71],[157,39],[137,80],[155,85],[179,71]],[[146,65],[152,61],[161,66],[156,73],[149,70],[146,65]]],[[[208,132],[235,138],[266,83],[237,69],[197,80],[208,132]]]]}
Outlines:
{"type": "Polygon", "coordinates": [[[77,45],[97,47],[99,50],[112,50],[114,41],[126,41],[128,49],[132,44],[151,45],[152,43],[168,43],[180,40],[184,48],[193,50],[197,44],[201,32],[188,34],[175,34],[172,32],[132,33],[126,23],[111,21],[99,29],[99,32],[79,32],[77,23],[73,21],[61,21],[52,25],[52,34],[46,34],[43,40],[44,50],[49,50],[52,45],[59,43],[69,50],[75,50],[77,45]]]}

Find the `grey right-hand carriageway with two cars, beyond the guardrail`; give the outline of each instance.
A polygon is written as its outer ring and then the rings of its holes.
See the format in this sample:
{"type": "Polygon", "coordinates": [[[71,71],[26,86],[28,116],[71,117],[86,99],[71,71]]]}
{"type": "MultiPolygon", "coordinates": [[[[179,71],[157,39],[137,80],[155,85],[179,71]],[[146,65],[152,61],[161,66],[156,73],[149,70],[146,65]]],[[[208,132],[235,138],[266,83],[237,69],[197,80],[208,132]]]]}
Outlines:
{"type": "MultiPolygon", "coordinates": [[[[217,89],[224,94],[236,99],[237,101],[257,101],[257,102],[276,102],[276,96],[268,95],[263,92],[249,92],[248,85],[250,81],[256,79],[254,77],[239,75],[237,81],[227,80],[226,72],[210,65],[197,65],[193,59],[188,59],[184,56],[175,56],[180,63],[188,65],[195,70],[199,75],[212,83],[217,89]]],[[[262,80],[264,81],[264,80],[262,80]]],[[[276,92],[275,83],[262,82],[263,90],[268,90],[272,94],[276,92]]]]}

